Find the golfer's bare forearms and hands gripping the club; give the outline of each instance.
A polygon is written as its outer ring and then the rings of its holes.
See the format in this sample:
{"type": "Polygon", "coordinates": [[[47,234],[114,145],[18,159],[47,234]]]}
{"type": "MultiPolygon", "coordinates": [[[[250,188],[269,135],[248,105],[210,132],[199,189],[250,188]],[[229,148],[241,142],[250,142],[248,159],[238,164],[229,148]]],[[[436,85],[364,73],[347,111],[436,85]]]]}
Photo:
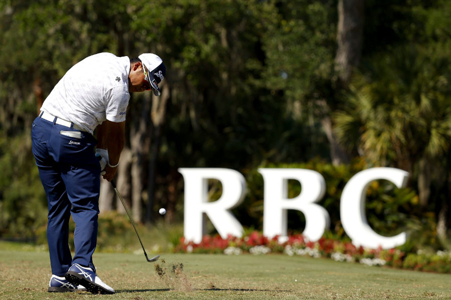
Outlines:
{"type": "Polygon", "coordinates": [[[111,181],[116,175],[117,167],[110,165],[117,165],[121,151],[125,144],[125,121],[112,122],[104,121],[96,128],[97,147],[101,149],[108,149],[109,165],[105,167],[105,174],[103,178],[111,181]]]}

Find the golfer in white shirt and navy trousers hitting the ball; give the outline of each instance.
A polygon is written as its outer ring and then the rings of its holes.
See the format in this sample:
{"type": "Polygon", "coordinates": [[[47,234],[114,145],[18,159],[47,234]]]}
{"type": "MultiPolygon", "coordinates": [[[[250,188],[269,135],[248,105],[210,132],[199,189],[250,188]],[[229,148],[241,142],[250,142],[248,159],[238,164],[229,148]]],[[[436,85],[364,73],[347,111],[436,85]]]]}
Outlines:
{"type": "Polygon", "coordinates": [[[163,61],[152,53],[132,59],[99,53],[70,68],[44,101],[31,135],[49,205],[47,240],[53,275],[48,291],[114,293],[97,276],[92,260],[100,176],[111,181],[116,174],[130,92],[152,90],[159,96],[158,83],[165,74],[163,61]],[[69,250],[71,215],[74,257],[69,250]]]}

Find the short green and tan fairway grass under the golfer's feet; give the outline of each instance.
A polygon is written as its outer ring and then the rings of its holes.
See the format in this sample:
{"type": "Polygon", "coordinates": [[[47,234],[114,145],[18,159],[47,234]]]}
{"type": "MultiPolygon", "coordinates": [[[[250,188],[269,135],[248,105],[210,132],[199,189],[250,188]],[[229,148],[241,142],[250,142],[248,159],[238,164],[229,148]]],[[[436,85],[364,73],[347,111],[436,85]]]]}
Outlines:
{"type": "Polygon", "coordinates": [[[94,263],[115,294],[49,293],[47,252],[0,250],[0,299],[451,299],[451,274],[283,254],[170,253],[149,263],[96,253],[94,263]]]}

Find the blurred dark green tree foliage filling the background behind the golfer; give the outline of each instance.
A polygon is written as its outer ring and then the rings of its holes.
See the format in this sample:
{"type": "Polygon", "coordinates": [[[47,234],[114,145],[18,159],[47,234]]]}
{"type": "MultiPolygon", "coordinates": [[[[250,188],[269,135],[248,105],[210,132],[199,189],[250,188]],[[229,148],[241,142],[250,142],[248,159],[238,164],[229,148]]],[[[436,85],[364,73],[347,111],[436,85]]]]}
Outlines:
{"type": "Polygon", "coordinates": [[[154,52],[168,67],[166,109],[158,121],[157,100],[144,94],[132,95],[127,117],[130,140],[147,136],[142,146],[127,146],[133,155],[144,149],[141,202],[150,211],[165,206],[169,221],[181,219],[178,167],[228,167],[251,180],[250,195],[235,213],[258,227],[263,195],[257,167],[299,165],[326,177],[321,203],[331,214],[331,229],[341,234],[335,217],[340,188],[359,168],[329,164],[323,119],[333,117],[347,154],[368,163],[359,166],[396,166],[411,174],[413,191],[375,188],[373,196],[388,205],[391,225],[377,223],[386,212],[379,204],[368,207],[372,225],[381,233],[403,228],[413,209],[418,220],[428,213],[433,225],[427,228],[436,225],[445,238],[451,4],[368,0],[364,14],[360,64],[342,89],[334,71],[336,1],[0,1],[0,236],[33,237],[45,224],[31,123],[67,69],[108,51],[132,57],[154,52]],[[143,115],[146,128],[136,121],[143,115]],[[153,197],[158,200],[149,203],[153,197]],[[414,199],[421,211],[413,208],[414,199]]]}

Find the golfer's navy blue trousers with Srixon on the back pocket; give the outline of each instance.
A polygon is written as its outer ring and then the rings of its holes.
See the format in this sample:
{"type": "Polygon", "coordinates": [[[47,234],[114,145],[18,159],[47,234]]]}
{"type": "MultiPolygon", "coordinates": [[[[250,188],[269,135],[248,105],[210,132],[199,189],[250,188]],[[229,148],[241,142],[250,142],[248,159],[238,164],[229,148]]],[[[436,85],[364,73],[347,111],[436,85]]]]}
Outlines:
{"type": "Polygon", "coordinates": [[[100,163],[89,133],[37,117],[32,149],[49,205],[47,241],[52,273],[64,276],[74,263],[95,270],[100,163]],[[68,132],[70,131],[70,132],[68,132]],[[70,135],[70,136],[68,136],[70,135]],[[75,255],[69,249],[69,219],[75,221],[75,255]]]}

